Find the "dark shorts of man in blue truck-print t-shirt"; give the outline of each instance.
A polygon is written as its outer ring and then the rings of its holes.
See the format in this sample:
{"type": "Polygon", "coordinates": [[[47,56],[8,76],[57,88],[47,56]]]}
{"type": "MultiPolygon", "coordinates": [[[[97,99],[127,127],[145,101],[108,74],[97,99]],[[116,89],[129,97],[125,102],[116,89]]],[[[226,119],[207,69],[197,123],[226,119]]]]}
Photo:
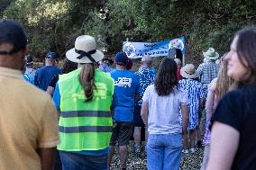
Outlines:
{"type": "Polygon", "coordinates": [[[113,133],[110,139],[110,146],[114,146],[116,142],[118,142],[119,146],[128,145],[132,134],[133,134],[132,122],[124,122],[124,121],[114,122],[113,133]]]}

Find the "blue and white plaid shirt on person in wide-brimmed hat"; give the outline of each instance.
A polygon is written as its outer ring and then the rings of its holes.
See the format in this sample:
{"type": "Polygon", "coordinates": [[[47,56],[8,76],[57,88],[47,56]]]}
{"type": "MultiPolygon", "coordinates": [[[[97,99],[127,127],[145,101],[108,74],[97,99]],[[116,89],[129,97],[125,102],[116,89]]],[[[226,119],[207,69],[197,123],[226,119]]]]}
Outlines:
{"type": "Polygon", "coordinates": [[[207,85],[209,85],[209,83],[218,76],[218,72],[219,65],[215,64],[215,61],[210,60],[199,65],[197,73],[200,76],[200,81],[204,89],[207,89],[207,85]]]}

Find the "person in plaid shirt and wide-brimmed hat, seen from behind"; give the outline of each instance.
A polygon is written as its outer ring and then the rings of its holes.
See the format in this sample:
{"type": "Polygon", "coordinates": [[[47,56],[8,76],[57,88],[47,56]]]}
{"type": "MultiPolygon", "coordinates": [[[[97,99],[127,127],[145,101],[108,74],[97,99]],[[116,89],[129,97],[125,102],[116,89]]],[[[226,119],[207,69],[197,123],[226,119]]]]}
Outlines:
{"type": "Polygon", "coordinates": [[[213,48],[209,48],[206,52],[203,52],[204,58],[208,60],[199,67],[197,67],[197,73],[199,74],[199,79],[207,92],[207,85],[218,76],[219,66],[215,63],[215,60],[219,58],[219,54],[213,48]]]}

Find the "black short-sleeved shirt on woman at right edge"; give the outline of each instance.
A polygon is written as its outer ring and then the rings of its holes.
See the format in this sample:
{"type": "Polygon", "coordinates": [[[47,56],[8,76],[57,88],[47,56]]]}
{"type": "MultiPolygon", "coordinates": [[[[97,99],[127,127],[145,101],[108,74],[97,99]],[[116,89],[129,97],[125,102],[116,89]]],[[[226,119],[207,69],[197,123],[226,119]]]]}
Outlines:
{"type": "Polygon", "coordinates": [[[232,169],[255,170],[256,85],[245,86],[224,95],[215,110],[213,121],[228,124],[240,133],[232,169]]]}

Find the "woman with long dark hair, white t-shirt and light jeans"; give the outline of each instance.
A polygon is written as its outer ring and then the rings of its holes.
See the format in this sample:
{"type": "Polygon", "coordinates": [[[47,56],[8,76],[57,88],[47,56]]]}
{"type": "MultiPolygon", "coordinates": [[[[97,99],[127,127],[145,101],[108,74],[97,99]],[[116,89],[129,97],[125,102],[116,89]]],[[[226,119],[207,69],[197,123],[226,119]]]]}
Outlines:
{"type": "Polygon", "coordinates": [[[147,143],[148,169],[178,170],[181,160],[182,135],[187,136],[188,98],[178,88],[177,65],[164,58],[155,79],[142,97],[142,120],[149,133],[147,143]],[[182,126],[179,122],[182,112],[182,126]]]}

